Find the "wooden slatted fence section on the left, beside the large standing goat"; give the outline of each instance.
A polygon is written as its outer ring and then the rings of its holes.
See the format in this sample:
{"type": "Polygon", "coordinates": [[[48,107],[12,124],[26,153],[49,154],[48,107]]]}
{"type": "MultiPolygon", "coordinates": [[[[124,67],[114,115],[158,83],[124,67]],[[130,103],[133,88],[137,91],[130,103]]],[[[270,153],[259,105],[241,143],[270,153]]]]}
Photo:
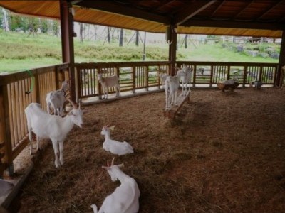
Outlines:
{"type": "Polygon", "coordinates": [[[42,67],[0,76],[0,176],[14,172],[13,160],[28,143],[24,109],[38,102],[46,109],[46,94],[68,78],[69,65],[42,67]]]}

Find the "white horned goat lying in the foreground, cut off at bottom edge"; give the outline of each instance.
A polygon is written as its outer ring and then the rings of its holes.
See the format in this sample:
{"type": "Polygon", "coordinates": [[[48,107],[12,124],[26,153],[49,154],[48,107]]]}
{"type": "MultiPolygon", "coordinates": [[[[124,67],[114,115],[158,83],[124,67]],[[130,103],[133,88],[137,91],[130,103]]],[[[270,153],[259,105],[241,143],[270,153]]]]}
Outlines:
{"type": "Polygon", "coordinates": [[[136,213],[140,209],[138,184],[134,178],[120,170],[122,166],[123,164],[114,165],[114,158],[111,165],[107,163],[107,166],[102,166],[113,182],[120,180],[120,186],[105,198],[99,211],[95,204],[91,205],[94,213],[136,213]]]}

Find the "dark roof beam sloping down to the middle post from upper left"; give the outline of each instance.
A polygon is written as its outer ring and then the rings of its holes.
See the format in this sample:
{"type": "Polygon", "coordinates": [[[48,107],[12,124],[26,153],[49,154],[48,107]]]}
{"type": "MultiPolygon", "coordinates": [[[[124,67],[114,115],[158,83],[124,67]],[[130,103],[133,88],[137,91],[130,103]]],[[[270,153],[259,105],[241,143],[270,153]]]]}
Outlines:
{"type": "Polygon", "coordinates": [[[131,16],[135,18],[145,19],[147,21],[154,21],[157,23],[170,24],[170,19],[155,13],[149,13],[140,9],[126,9],[125,6],[114,4],[113,1],[81,1],[76,3],[76,6],[82,6],[89,9],[96,9],[99,11],[106,11],[109,13],[124,14],[124,16],[131,16]]]}

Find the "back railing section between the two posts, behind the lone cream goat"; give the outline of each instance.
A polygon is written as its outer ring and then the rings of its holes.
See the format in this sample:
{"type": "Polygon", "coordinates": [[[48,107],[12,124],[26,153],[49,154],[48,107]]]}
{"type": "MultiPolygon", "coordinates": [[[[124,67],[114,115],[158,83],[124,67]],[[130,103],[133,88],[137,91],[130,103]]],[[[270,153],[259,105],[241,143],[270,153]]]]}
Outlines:
{"type": "MultiPolygon", "coordinates": [[[[169,62],[110,62],[110,63],[82,63],[76,64],[76,88],[78,99],[100,97],[101,87],[97,74],[103,77],[118,75],[120,78],[120,91],[136,92],[136,89],[150,87],[160,88],[159,72],[169,73],[169,62]]],[[[109,93],[115,90],[110,88],[109,93]]]]}

